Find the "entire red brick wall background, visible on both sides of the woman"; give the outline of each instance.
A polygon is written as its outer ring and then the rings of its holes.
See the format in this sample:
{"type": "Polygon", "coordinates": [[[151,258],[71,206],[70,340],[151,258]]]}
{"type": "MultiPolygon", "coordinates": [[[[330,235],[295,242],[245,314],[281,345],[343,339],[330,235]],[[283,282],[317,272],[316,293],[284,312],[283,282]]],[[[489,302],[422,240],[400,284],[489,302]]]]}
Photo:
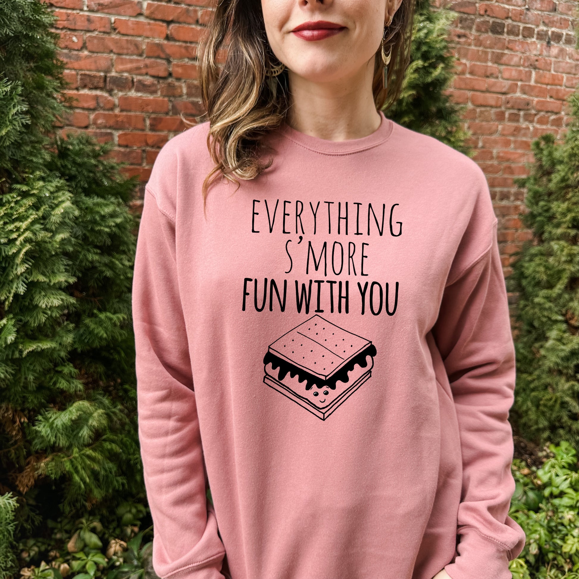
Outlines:
{"type": "MultiPolygon", "coordinates": [[[[195,58],[211,0],[45,1],[59,19],[68,94],[76,98],[66,130],[113,141],[116,159],[145,182],[160,147],[202,112],[195,58]]],[[[565,99],[579,82],[577,3],[456,0],[451,6],[459,57],[452,94],[467,105],[464,120],[489,180],[508,276],[512,252],[529,237],[516,217],[523,191],[513,179],[525,174],[533,138],[562,135],[565,99]]]]}

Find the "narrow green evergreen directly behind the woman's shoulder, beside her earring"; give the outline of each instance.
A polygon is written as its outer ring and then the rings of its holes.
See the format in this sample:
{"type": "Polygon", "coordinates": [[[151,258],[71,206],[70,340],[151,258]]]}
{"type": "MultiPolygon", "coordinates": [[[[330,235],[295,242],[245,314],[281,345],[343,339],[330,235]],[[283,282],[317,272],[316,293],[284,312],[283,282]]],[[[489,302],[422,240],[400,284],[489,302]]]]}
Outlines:
{"type": "Polygon", "coordinates": [[[456,59],[448,41],[450,23],[455,18],[452,10],[434,9],[428,0],[416,1],[411,62],[401,97],[386,115],[466,153],[467,133],[460,118],[463,108],[446,93],[455,74],[456,59]]]}

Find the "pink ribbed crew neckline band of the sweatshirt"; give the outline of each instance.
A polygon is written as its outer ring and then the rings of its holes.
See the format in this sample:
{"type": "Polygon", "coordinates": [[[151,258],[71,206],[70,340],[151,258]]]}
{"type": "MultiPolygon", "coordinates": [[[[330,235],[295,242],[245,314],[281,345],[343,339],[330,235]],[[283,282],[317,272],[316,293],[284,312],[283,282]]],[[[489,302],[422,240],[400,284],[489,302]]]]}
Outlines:
{"type": "Polygon", "coordinates": [[[345,141],[328,141],[319,137],[313,137],[306,133],[294,129],[287,123],[283,123],[280,127],[280,134],[296,144],[325,155],[351,155],[351,153],[358,153],[367,151],[375,146],[381,145],[387,138],[390,137],[394,123],[387,119],[382,111],[378,111],[380,115],[380,125],[373,133],[360,137],[357,139],[347,139],[345,141]]]}

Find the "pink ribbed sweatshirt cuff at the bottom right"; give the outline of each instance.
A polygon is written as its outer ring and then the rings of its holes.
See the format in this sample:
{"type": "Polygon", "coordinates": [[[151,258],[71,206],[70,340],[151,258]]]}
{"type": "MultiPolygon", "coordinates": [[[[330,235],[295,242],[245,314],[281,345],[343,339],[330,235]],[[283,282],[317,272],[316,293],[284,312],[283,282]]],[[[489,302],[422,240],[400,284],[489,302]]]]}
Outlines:
{"type": "Polygon", "coordinates": [[[444,567],[446,573],[452,579],[512,579],[507,549],[474,529],[465,531],[457,545],[455,562],[444,567]]]}

